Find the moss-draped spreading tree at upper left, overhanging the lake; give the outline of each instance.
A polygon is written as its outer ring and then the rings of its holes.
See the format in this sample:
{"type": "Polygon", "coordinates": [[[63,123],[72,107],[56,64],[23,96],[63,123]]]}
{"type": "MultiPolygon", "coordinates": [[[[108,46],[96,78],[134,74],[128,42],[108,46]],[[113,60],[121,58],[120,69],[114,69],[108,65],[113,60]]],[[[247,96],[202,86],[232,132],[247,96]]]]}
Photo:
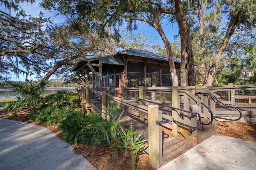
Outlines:
{"type": "Polygon", "coordinates": [[[27,16],[16,5],[18,2],[24,0],[1,0],[6,8],[16,11],[16,16],[0,11],[1,79],[9,71],[17,76],[38,75],[38,79],[46,73],[44,78],[48,79],[61,67],[67,67],[65,71],[70,70],[76,59],[100,51],[106,54],[115,51],[113,45],[106,43],[110,40],[100,38],[91,30],[80,34],[73,29],[74,24],[54,26],[50,18],[45,18],[42,13],[38,17],[27,16]]]}

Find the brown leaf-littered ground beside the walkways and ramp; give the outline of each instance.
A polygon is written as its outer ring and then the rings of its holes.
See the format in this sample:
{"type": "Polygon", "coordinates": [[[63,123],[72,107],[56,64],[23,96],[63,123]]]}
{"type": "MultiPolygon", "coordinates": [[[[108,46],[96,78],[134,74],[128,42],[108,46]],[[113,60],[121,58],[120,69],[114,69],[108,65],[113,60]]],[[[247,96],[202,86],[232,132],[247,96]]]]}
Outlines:
{"type": "MultiPolygon", "coordinates": [[[[11,119],[15,121],[23,121],[34,125],[43,126],[43,123],[31,122],[25,118],[28,115],[28,110],[19,112],[15,117],[6,118],[7,113],[0,111],[0,118],[11,119]]],[[[256,142],[256,123],[246,122],[221,122],[216,121],[216,125],[219,127],[218,134],[225,136],[232,136],[235,138],[241,138],[251,142],[256,142]]],[[[64,140],[62,131],[58,128],[58,125],[46,127],[50,129],[58,138],[64,140]]],[[[94,167],[98,170],[131,170],[132,161],[130,154],[124,156],[124,152],[120,150],[110,149],[106,146],[97,146],[92,150],[92,146],[88,144],[74,145],[74,152],[76,154],[83,155],[94,167]]],[[[136,161],[137,170],[151,170],[149,166],[148,154],[140,154],[139,160],[136,161]]]]}

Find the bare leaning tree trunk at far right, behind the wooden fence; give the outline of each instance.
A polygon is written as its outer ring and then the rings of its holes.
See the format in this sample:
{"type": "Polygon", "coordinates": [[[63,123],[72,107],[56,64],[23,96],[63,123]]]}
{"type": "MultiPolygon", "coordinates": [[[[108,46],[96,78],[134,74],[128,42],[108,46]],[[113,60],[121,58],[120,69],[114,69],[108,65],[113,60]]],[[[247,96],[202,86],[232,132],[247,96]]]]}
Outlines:
{"type": "Polygon", "coordinates": [[[217,67],[219,65],[219,62],[220,62],[220,59],[221,59],[221,56],[222,56],[222,53],[224,52],[230,37],[235,32],[235,29],[236,29],[237,25],[238,25],[238,16],[233,16],[232,15],[231,18],[230,18],[230,22],[229,22],[229,25],[228,25],[228,30],[226,32],[226,35],[223,38],[222,43],[220,43],[220,45],[216,49],[216,52],[215,52],[215,55],[214,55],[214,62],[212,63],[212,66],[210,68],[206,86],[211,86],[212,85],[212,83],[214,81],[215,74],[216,74],[217,67]]]}

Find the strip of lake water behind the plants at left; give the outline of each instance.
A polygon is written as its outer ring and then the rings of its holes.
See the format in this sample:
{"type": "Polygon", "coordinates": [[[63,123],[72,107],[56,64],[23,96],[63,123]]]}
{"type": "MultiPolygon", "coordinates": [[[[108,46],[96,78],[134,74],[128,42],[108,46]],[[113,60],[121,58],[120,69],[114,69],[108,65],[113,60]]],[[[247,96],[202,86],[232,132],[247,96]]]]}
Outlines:
{"type": "MultiPolygon", "coordinates": [[[[71,90],[71,91],[76,92],[75,89],[76,89],[76,87],[46,88],[46,95],[56,93],[56,91],[58,91],[58,90],[71,90]]],[[[15,95],[16,95],[16,93],[13,92],[12,89],[0,89],[0,99],[13,98],[13,97],[16,97],[15,95]]]]}

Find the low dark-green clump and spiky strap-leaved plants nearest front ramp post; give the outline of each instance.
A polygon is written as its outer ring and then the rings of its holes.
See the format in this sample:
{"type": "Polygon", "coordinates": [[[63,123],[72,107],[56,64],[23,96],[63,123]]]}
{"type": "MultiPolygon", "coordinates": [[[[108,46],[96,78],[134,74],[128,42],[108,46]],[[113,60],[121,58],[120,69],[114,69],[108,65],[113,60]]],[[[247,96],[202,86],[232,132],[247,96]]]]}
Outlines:
{"type": "Polygon", "coordinates": [[[88,115],[73,112],[60,121],[59,127],[64,131],[67,142],[88,142],[94,146],[107,144],[116,149],[124,149],[125,155],[131,150],[132,167],[135,169],[134,156],[138,159],[138,152],[144,152],[147,140],[140,140],[143,131],[134,133],[132,127],[129,127],[126,132],[119,125],[122,114],[123,111],[117,105],[109,104],[106,109],[107,119],[94,112],[88,115]]]}

